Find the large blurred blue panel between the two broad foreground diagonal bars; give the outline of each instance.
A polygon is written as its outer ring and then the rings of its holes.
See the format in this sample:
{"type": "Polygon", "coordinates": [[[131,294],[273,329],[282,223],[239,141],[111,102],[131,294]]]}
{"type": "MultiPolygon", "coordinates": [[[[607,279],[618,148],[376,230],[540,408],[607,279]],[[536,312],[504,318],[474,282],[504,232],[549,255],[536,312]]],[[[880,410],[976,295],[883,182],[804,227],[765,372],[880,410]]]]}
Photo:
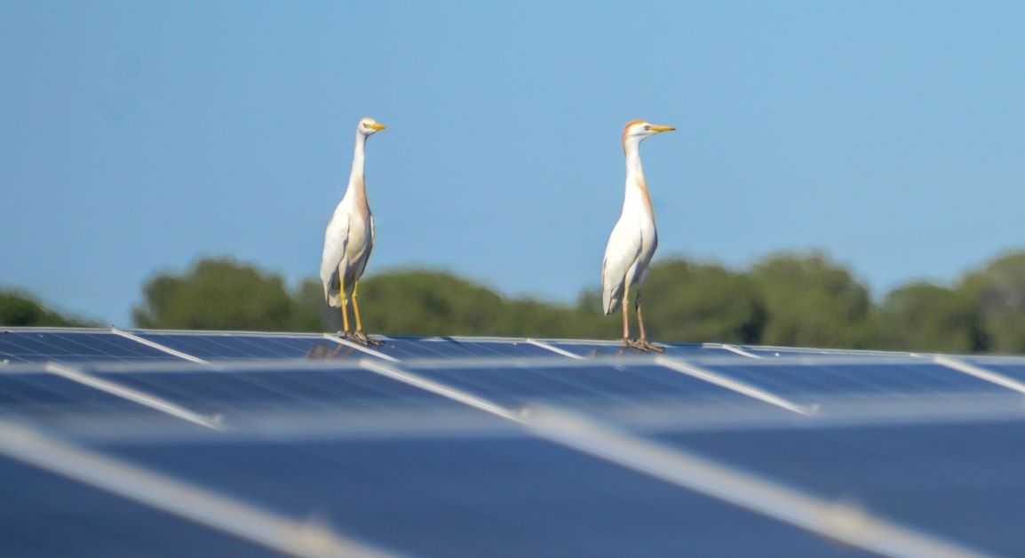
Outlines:
{"type": "Polygon", "coordinates": [[[854,554],[527,438],[171,442],[107,450],[416,556],[854,554]]]}

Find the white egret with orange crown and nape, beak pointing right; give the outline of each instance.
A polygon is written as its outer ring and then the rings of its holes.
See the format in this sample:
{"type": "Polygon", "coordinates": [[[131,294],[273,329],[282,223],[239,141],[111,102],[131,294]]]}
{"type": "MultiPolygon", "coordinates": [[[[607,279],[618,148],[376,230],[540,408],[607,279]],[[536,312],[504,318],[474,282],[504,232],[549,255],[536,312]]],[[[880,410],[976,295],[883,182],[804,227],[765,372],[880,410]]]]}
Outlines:
{"type": "Polygon", "coordinates": [[[644,169],[641,167],[641,142],[656,133],[672,131],[672,126],[662,126],[632,120],[623,128],[623,153],[626,154],[626,195],[623,199],[623,211],[612,234],[609,245],[605,248],[605,260],[602,262],[602,307],[605,315],[612,314],[617,309],[623,309],[623,343],[641,351],[654,350],[661,352],[662,348],[648,343],[644,330],[644,317],[641,312],[641,287],[648,275],[648,265],[658,246],[658,233],[655,231],[655,211],[651,206],[651,196],[648,195],[648,185],[644,180],[644,169]],[[630,338],[629,317],[626,304],[630,287],[637,285],[633,294],[633,307],[637,309],[638,325],[641,336],[630,338]]]}

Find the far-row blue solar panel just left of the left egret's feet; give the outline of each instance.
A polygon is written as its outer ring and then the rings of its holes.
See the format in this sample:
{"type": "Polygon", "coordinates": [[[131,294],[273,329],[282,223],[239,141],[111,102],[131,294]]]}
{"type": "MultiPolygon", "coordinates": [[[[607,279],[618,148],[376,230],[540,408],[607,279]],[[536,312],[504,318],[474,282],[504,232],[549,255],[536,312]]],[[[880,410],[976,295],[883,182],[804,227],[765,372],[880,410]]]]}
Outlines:
{"type": "Polygon", "coordinates": [[[288,337],[238,333],[151,333],[138,331],[138,336],[159,343],[203,360],[224,359],[330,359],[348,356],[366,357],[331,340],[323,337],[288,337]],[[355,355],[354,355],[355,353],[355,355]]]}

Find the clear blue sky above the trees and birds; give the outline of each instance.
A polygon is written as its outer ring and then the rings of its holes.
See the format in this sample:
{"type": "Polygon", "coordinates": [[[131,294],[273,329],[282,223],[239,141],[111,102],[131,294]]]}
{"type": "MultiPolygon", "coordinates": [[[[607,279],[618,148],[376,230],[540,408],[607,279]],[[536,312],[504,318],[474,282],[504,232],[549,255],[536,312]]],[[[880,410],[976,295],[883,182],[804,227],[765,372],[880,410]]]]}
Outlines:
{"type": "Polygon", "coordinates": [[[1018,1],[7,0],[0,284],[128,325],[199,255],[316,276],[365,115],[369,273],[572,300],[644,118],[656,257],[947,281],[1025,244],[1023,61],[1018,1]]]}

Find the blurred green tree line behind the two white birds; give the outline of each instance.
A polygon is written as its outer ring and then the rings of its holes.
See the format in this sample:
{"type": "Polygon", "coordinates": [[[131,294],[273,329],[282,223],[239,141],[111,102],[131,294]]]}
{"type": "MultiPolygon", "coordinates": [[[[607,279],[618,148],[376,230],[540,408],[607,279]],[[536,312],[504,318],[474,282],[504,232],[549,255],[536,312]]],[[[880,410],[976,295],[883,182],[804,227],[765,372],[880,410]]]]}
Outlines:
{"type": "MultiPolygon", "coordinates": [[[[873,301],[848,268],[821,252],[780,252],[746,269],[671,257],[651,268],[645,318],[662,342],[954,353],[1025,353],[1025,252],[1012,252],[949,285],[910,282],[873,301]]],[[[399,269],[360,285],[369,331],[419,335],[614,338],[597,288],[575,303],[504,296],[479,282],[399,269]]],[[[281,276],[229,257],[155,275],[133,311],[136,326],[333,331],[340,314],[320,282],[289,288],[281,276]]],[[[86,325],[29,295],[0,291],[5,325],[86,325]]]]}

